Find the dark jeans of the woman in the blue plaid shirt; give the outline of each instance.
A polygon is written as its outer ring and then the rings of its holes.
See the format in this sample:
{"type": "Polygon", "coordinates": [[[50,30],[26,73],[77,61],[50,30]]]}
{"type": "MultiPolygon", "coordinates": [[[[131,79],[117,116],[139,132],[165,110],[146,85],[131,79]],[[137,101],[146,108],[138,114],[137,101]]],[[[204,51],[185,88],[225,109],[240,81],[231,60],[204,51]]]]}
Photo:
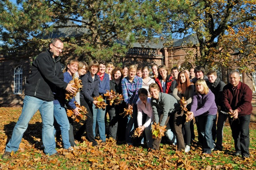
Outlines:
{"type": "Polygon", "coordinates": [[[128,121],[127,121],[126,132],[125,132],[125,140],[126,140],[126,143],[128,143],[129,145],[134,144],[132,135],[134,134],[134,128],[138,127],[138,125],[137,125],[138,124],[137,123],[137,105],[134,104],[132,109],[133,109],[132,117],[130,115],[127,116],[128,121]]]}

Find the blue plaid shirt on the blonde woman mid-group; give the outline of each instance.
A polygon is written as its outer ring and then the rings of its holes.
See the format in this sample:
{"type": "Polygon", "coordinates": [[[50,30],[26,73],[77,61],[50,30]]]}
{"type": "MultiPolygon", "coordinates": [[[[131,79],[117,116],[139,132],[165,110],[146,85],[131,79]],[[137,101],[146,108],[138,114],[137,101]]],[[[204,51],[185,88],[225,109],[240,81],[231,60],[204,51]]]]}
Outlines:
{"type": "Polygon", "coordinates": [[[135,76],[130,82],[128,76],[122,79],[122,91],[126,104],[136,104],[138,101],[138,90],[142,88],[142,78],[135,76]]]}

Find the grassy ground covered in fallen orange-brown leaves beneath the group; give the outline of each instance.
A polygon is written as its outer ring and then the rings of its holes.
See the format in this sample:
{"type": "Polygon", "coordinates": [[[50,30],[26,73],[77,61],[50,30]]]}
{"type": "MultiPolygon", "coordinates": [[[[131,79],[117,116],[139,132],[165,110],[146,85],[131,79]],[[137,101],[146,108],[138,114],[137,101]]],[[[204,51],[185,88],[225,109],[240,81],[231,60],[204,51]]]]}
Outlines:
{"type": "MultiPolygon", "coordinates": [[[[21,113],[21,108],[0,107],[0,155],[4,153],[6,142],[12,135],[13,127],[21,113]]],[[[224,127],[224,151],[214,151],[210,155],[202,154],[201,148],[192,144],[189,153],[178,152],[176,146],[161,144],[160,150],[148,152],[144,147],[117,145],[111,139],[99,147],[92,147],[84,141],[78,143],[74,152],[57,150],[62,155],[50,157],[40,149],[42,144],[42,123],[40,113],[36,113],[24,133],[20,149],[9,160],[0,159],[0,169],[42,169],[42,170],[154,170],[154,169],[255,169],[256,167],[256,122],[250,123],[250,158],[245,160],[233,156],[234,143],[230,127],[224,127]]],[[[78,125],[79,126],[79,125],[78,125]]]]}

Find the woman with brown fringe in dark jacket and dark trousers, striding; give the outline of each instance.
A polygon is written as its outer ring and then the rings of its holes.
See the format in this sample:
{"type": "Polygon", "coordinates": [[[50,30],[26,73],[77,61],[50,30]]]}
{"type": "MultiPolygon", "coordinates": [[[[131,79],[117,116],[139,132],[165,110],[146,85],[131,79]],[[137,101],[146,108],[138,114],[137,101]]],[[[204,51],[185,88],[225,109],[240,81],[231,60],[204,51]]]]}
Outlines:
{"type": "Polygon", "coordinates": [[[99,78],[97,76],[99,70],[99,63],[98,61],[94,60],[91,61],[88,67],[88,72],[81,76],[82,80],[82,90],[80,91],[80,104],[81,106],[86,107],[88,111],[87,119],[85,124],[80,127],[75,135],[75,139],[80,141],[84,131],[86,130],[86,137],[88,141],[92,142],[93,146],[98,145],[95,141],[92,124],[93,124],[93,117],[92,117],[92,107],[95,107],[98,101],[94,100],[94,96],[99,96],[99,78]],[[93,106],[94,105],[94,106],[93,106]]]}

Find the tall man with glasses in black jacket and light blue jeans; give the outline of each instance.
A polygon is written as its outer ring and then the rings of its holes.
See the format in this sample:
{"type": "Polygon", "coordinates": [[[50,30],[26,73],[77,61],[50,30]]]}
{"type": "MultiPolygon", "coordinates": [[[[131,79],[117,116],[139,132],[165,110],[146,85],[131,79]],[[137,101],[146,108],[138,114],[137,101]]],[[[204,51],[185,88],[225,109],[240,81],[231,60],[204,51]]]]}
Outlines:
{"type": "Polygon", "coordinates": [[[60,64],[60,53],[62,53],[63,42],[54,38],[50,42],[49,49],[40,53],[32,63],[30,76],[27,79],[25,98],[22,113],[13,129],[12,137],[6,145],[3,159],[11,157],[11,152],[19,149],[22,136],[28,127],[30,119],[37,110],[42,117],[42,141],[44,152],[48,155],[58,156],[55,147],[53,126],[53,90],[64,89],[74,93],[76,88],[73,84],[63,81],[64,76],[60,64]]]}

